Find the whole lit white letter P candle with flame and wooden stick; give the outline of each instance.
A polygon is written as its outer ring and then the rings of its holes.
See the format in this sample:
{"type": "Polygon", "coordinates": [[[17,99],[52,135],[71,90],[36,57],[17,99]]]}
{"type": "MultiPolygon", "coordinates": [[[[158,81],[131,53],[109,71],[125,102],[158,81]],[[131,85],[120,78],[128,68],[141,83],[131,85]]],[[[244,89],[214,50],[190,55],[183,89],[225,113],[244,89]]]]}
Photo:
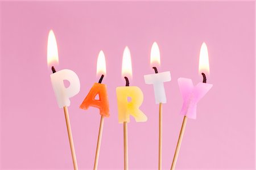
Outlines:
{"type": "MultiPolygon", "coordinates": [[[[47,63],[48,63],[48,66],[52,66],[54,63],[59,63],[57,42],[52,30],[49,31],[49,35],[48,35],[47,63]]],[[[72,96],[75,96],[80,91],[79,77],[76,75],[74,71],[68,70],[68,69],[64,69],[56,72],[55,68],[52,66],[51,83],[52,83],[53,91],[55,92],[55,96],[56,96],[59,108],[64,108],[65,121],[67,124],[67,130],[68,130],[69,145],[71,147],[71,154],[72,154],[72,160],[73,160],[73,167],[75,170],[77,170],[78,168],[77,168],[77,161],[76,161],[76,153],[75,153],[75,147],[73,144],[71,125],[70,125],[69,115],[68,115],[68,107],[70,105],[69,98],[72,96]],[[69,87],[65,87],[64,80],[69,81],[70,83],[69,87]]]]}

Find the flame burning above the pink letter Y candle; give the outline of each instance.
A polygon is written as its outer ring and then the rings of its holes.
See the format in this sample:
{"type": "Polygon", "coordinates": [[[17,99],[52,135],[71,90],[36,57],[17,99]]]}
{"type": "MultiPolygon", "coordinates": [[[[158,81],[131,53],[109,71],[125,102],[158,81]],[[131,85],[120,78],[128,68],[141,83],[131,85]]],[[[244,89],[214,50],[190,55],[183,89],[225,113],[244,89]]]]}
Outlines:
{"type": "Polygon", "coordinates": [[[199,57],[199,74],[210,74],[208,49],[205,42],[201,45],[200,57],[199,57]]]}

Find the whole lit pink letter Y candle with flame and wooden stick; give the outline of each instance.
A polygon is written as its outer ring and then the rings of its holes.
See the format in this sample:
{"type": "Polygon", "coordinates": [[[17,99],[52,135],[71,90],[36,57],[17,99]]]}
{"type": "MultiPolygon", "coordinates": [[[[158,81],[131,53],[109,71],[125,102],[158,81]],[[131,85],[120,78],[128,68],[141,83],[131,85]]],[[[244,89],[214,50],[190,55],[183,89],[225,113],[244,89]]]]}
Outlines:
{"type": "Polygon", "coordinates": [[[187,124],[187,117],[196,119],[196,105],[201,98],[212,88],[212,84],[207,83],[205,73],[209,74],[209,59],[208,50],[205,42],[201,45],[200,57],[199,57],[199,73],[203,75],[203,83],[198,83],[195,87],[193,86],[192,80],[187,78],[179,78],[178,84],[180,92],[183,97],[183,106],[180,114],[184,116],[179,139],[177,142],[174,159],[172,160],[171,170],[175,169],[177,156],[179,155],[181,141],[184,135],[185,126],[187,124]]]}

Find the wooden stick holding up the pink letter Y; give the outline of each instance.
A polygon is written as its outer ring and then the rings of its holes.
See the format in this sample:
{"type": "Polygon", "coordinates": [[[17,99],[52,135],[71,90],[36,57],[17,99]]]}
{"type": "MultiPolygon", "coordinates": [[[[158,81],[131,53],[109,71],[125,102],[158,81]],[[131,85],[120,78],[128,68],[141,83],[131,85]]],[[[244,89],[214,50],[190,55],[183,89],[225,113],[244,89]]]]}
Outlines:
{"type": "Polygon", "coordinates": [[[184,135],[186,124],[187,124],[187,116],[184,116],[182,126],[181,126],[181,129],[180,129],[179,140],[177,142],[177,146],[176,146],[176,150],[175,150],[175,154],[174,154],[174,159],[172,160],[171,170],[175,169],[175,166],[176,166],[176,163],[177,163],[177,156],[179,155],[180,145],[181,145],[181,141],[182,141],[182,138],[183,138],[183,135],[184,135]]]}

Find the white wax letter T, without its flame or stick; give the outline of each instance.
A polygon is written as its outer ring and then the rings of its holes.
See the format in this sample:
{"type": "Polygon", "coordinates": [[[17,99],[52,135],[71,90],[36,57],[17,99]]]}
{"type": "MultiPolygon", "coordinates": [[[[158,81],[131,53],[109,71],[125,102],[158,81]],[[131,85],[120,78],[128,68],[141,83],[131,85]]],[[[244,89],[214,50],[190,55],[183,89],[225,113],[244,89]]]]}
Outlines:
{"type": "Polygon", "coordinates": [[[170,71],[144,75],[144,80],[146,84],[153,84],[155,92],[155,103],[166,103],[166,92],[164,90],[164,82],[171,81],[170,71]]]}

